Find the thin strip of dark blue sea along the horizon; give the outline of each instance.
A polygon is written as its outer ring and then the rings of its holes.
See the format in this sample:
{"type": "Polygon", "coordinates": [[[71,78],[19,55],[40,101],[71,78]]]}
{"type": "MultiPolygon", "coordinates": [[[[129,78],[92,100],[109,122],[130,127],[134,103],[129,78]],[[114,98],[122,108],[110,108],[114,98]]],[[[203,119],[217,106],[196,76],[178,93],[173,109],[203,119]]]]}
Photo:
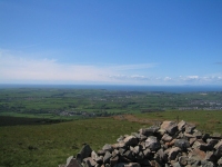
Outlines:
{"type": "Polygon", "coordinates": [[[222,91],[222,86],[129,86],[129,85],[0,85],[6,88],[104,89],[120,91],[208,92],[222,91]]]}

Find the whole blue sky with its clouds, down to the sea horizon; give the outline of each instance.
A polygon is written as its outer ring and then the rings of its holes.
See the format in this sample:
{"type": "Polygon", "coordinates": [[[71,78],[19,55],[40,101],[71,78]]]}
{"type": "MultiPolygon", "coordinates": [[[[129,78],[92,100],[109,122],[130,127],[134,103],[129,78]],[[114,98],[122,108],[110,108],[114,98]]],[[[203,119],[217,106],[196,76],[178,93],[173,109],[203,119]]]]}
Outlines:
{"type": "Polygon", "coordinates": [[[222,85],[221,0],[0,0],[0,84],[222,85]]]}

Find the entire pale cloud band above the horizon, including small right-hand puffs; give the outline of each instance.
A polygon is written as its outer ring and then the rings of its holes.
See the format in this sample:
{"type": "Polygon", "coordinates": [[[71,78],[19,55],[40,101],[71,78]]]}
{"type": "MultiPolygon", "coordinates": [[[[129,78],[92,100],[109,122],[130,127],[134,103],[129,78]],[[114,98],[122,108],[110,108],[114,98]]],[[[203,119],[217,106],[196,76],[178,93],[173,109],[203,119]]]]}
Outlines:
{"type": "MultiPolygon", "coordinates": [[[[0,84],[131,84],[131,85],[205,85],[222,84],[222,73],[172,77],[144,75],[158,63],[78,65],[54,59],[33,59],[0,50],[0,84]],[[142,71],[142,72],[141,72],[142,71]]],[[[152,70],[153,71],[153,70],[152,70]]]]}

